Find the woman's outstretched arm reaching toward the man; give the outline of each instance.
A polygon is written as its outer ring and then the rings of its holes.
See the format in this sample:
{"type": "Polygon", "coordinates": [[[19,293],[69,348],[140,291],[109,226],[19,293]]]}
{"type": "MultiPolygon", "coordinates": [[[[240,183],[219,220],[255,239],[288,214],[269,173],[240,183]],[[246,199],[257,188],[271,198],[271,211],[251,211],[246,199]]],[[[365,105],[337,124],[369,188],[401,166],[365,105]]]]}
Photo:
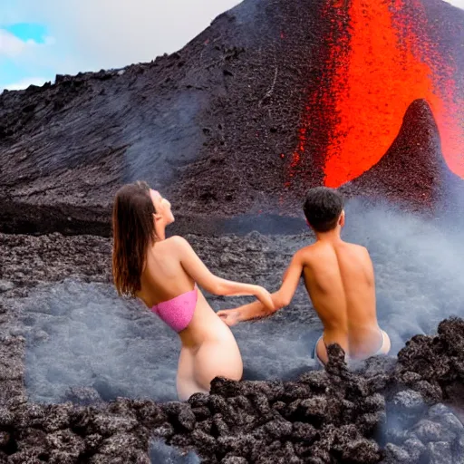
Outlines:
{"type": "Polygon", "coordinates": [[[179,250],[179,261],[185,272],[195,282],[213,295],[241,296],[254,295],[268,310],[274,309],[271,295],[260,285],[242,284],[214,275],[195,253],[189,242],[183,237],[171,237],[179,250]]]}

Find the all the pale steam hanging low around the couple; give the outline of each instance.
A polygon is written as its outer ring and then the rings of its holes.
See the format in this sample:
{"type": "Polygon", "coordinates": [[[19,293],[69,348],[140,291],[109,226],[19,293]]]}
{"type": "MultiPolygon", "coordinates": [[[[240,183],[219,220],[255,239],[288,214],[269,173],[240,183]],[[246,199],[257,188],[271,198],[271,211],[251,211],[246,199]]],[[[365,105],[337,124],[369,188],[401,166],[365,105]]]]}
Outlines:
{"type": "MultiPolygon", "coordinates": [[[[379,322],[391,335],[393,354],[411,335],[433,333],[443,318],[464,315],[459,228],[361,201],[352,201],[346,212],[343,237],[371,252],[379,322]]],[[[277,256],[304,246],[308,237],[243,239],[264,241],[263,255],[277,256]]],[[[243,247],[240,240],[235,237],[229,247],[243,247]]],[[[247,260],[247,252],[239,256],[247,260]]],[[[267,275],[256,274],[256,282],[275,290],[284,268],[279,262],[267,275]]],[[[208,300],[215,310],[246,301],[208,300]]],[[[26,385],[33,401],[63,401],[66,390],[76,386],[92,387],[104,400],[175,398],[177,335],[141,304],[118,298],[111,285],[66,280],[43,286],[25,300],[23,314],[26,385]]],[[[288,308],[264,321],[240,324],[234,333],[251,377],[282,378],[314,366],[312,349],[321,329],[300,285],[288,308]]]]}

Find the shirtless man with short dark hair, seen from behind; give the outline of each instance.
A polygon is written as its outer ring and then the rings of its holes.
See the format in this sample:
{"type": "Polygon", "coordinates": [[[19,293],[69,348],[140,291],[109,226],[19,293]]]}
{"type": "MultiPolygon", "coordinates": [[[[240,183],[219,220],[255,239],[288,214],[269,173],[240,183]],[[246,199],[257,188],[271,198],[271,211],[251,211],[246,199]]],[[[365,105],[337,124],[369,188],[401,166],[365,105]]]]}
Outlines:
{"type": "Polygon", "coordinates": [[[365,359],[390,352],[387,333],[377,323],[375,282],[369,252],[365,247],[343,242],[343,197],[335,189],[310,189],[304,201],[304,216],[314,230],[313,245],[297,251],[285,271],[280,289],[272,294],[274,311],[260,302],[219,311],[227,325],[266,317],[290,304],[300,277],[324,324],[324,333],[314,346],[314,357],[328,361],[326,347],[338,343],[352,359],[365,359]]]}

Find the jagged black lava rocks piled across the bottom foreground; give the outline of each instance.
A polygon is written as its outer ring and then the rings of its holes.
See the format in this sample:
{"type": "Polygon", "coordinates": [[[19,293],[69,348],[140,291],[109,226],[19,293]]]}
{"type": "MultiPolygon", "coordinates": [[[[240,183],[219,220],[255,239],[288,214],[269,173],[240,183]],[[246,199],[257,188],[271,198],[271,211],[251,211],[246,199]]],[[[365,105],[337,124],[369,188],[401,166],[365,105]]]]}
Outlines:
{"type": "Polygon", "coordinates": [[[398,362],[376,357],[355,371],[332,345],[325,371],[295,382],[216,378],[187,402],[4,405],[0,461],[141,464],[157,439],[208,463],[459,463],[462,399],[452,389],[464,384],[463,342],[454,318],[413,337],[398,362]]]}

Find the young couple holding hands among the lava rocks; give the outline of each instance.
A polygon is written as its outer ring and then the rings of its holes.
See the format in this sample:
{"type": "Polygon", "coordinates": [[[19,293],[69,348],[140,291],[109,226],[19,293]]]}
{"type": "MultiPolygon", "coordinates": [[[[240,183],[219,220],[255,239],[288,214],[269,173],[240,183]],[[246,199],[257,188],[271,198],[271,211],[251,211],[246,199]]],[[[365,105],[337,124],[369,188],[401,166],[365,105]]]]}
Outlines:
{"type": "Polygon", "coordinates": [[[343,242],[343,198],[334,189],[310,189],[304,216],[316,241],[293,256],[274,294],[259,285],[213,275],[189,242],[166,238],[174,222],[170,203],[145,182],[122,187],[113,207],[114,283],[120,295],[138,297],[179,333],[177,390],[185,401],[208,392],[216,376],[240,380],[243,364],[228,326],[265,317],[290,304],[301,276],[324,333],[314,357],[327,362],[326,347],[338,343],[352,359],[390,351],[378,323],[372,261],[364,247],[343,242]],[[214,295],[255,295],[257,301],[215,313],[198,286],[214,295]]]}

